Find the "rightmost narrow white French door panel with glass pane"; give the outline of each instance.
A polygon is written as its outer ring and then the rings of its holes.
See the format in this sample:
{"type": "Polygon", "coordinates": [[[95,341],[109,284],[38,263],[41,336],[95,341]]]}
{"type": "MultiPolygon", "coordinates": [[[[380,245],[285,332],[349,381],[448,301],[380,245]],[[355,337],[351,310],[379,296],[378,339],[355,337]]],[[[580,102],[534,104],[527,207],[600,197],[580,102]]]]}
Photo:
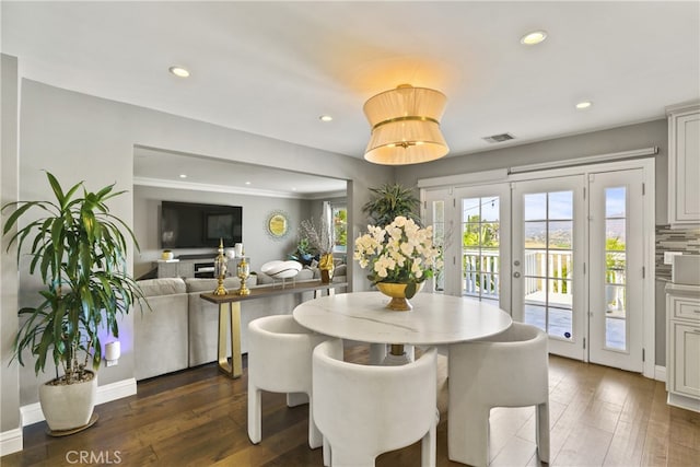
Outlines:
{"type": "Polygon", "coordinates": [[[642,170],[592,173],[590,360],[641,372],[643,335],[642,170]]]}

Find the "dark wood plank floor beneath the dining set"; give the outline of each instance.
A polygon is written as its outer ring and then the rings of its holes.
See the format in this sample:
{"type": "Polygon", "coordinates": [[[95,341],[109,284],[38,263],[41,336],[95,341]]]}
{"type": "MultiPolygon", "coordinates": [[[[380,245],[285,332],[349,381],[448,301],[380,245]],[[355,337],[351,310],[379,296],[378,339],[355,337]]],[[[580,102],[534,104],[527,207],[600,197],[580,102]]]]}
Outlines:
{"type": "MultiPolygon", "coordinates": [[[[348,358],[362,361],[366,352],[353,349],[348,358]]],[[[441,358],[439,466],[459,465],[447,459],[445,369],[441,358]]],[[[550,369],[551,465],[700,466],[700,415],[667,406],[663,383],[557,357],[550,369]]],[[[26,427],[24,451],[0,464],[323,465],[320,450],[306,444],[307,406],[288,408],[283,395],[264,395],[262,442],[250,444],[246,387],[245,372],[232,381],[214,365],[144,381],[136,396],[98,406],[98,422],[81,433],[50,437],[44,422],[26,427]]],[[[491,465],[539,465],[534,439],[534,409],[491,412],[491,465]]],[[[384,454],[376,465],[418,466],[420,444],[384,454]]]]}

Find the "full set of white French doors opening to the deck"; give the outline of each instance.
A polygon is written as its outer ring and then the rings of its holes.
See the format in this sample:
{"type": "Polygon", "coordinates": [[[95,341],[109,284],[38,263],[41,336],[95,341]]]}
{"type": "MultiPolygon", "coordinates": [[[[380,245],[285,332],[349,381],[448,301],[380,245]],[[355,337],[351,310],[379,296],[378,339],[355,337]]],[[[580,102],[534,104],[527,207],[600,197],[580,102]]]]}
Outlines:
{"type": "Polygon", "coordinates": [[[653,163],[609,167],[424,191],[444,246],[436,291],[497,303],[547,331],[551,353],[653,372],[653,163]]]}

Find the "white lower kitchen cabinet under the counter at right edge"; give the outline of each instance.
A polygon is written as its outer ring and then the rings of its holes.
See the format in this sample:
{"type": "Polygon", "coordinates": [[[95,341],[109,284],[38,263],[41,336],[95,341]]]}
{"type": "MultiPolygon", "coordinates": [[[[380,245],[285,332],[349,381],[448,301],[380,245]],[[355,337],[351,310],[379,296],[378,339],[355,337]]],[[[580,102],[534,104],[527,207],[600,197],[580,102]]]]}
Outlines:
{"type": "Polygon", "coordinates": [[[668,404],[700,412],[700,287],[666,287],[668,404]]]}

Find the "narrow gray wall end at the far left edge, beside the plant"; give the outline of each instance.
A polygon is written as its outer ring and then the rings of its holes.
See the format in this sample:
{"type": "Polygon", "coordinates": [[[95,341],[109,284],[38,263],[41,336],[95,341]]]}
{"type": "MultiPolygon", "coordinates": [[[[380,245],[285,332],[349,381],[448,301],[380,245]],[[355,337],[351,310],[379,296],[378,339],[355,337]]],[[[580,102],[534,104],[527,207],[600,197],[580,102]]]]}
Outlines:
{"type": "MultiPolygon", "coordinates": [[[[0,205],[18,200],[18,60],[0,55],[0,205]]],[[[2,217],[4,226],[5,215],[2,217]]],[[[20,427],[20,380],[16,362],[10,364],[18,320],[16,248],[5,253],[7,238],[0,238],[0,433],[20,427]]]]}

